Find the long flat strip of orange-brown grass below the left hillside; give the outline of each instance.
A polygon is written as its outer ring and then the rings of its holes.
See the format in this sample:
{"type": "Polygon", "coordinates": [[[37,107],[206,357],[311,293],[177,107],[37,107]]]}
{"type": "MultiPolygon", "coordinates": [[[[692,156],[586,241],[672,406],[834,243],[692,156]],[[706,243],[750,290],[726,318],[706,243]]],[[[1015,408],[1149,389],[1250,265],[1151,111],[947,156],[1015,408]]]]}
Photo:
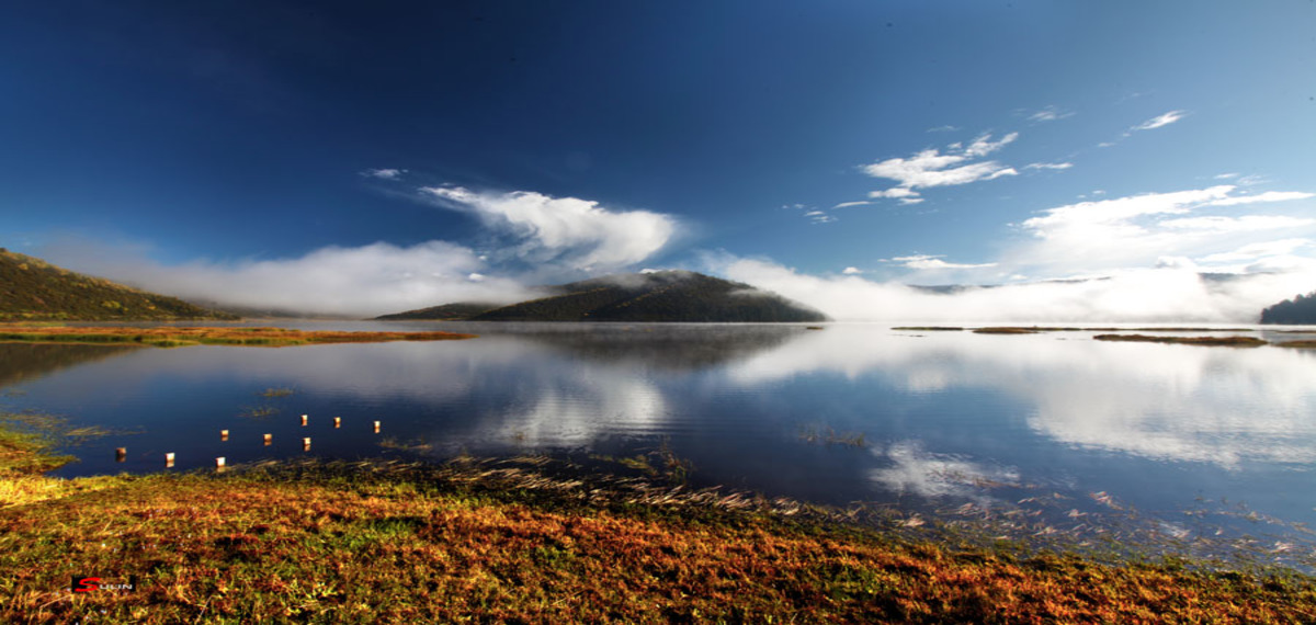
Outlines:
{"type": "Polygon", "coordinates": [[[376,343],[386,341],[453,341],[475,338],[454,332],[326,332],[288,328],[136,328],[0,325],[0,342],[120,343],[180,347],[243,345],[287,347],[312,343],[376,343]]]}

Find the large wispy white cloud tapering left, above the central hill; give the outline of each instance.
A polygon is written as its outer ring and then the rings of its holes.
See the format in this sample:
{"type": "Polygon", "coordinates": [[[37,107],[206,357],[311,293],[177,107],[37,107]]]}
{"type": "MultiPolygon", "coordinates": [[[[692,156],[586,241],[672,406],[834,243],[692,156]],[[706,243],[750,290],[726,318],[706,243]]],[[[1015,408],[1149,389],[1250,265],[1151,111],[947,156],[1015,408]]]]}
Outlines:
{"type": "Polygon", "coordinates": [[[533,191],[476,192],[463,187],[422,187],[441,205],[478,216],[512,234],[517,258],[604,271],[638,263],[667,245],[676,221],[649,211],[609,211],[597,201],[551,197],[533,191]]]}

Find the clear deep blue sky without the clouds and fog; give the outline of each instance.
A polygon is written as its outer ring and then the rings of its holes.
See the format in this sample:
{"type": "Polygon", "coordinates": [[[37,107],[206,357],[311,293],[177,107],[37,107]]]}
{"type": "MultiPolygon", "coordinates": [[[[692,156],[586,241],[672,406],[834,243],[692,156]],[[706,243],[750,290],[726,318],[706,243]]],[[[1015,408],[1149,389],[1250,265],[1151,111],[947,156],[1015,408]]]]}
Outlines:
{"type": "Polygon", "coordinates": [[[1313,26],[1309,3],[14,3],[0,237],[162,263],[494,245],[416,200],[457,184],[671,214],[655,263],[899,276],[880,259],[987,262],[1094,189],[1316,189],[1313,26]],[[991,158],[1020,175],[830,208],[892,186],[862,164],[1009,132],[991,158]]]}

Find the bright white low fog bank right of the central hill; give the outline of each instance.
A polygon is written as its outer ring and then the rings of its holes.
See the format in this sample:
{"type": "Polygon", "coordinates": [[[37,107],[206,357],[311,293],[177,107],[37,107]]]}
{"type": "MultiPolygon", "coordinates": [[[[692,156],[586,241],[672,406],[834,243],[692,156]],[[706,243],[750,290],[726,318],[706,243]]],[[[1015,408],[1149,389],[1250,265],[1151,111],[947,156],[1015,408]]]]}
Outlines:
{"type": "Polygon", "coordinates": [[[719,270],[837,321],[1254,324],[1263,308],[1316,288],[1316,271],[1309,270],[1209,279],[1194,268],[1163,267],[953,293],[855,275],[803,275],[763,261],[733,259],[719,270]]]}

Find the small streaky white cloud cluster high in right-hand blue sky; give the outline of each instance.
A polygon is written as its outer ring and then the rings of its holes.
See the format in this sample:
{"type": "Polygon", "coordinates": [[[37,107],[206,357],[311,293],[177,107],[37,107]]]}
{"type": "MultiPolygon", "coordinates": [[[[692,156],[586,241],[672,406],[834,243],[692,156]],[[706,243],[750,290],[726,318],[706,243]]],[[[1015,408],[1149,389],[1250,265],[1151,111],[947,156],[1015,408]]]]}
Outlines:
{"type": "Polygon", "coordinates": [[[990,134],[974,139],[969,146],[951,143],[946,153],[929,149],[908,158],[890,158],[863,166],[863,172],[873,178],[895,180],[896,187],[874,191],[870,197],[913,199],[913,189],[969,184],[978,180],[994,180],[1001,176],[1017,175],[1013,167],[995,161],[978,161],[1009,145],[1019,133],[1009,133],[999,141],[991,141],[990,134]]]}

